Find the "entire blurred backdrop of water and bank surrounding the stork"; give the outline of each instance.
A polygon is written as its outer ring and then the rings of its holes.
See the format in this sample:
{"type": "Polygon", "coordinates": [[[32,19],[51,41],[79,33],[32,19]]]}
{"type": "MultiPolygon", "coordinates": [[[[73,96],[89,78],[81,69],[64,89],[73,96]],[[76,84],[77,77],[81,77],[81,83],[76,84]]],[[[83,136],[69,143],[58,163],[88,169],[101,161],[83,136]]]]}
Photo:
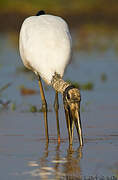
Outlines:
{"type": "MultiPolygon", "coordinates": [[[[63,172],[58,174],[59,177],[80,177],[80,174],[118,177],[117,127],[118,1],[0,0],[1,179],[8,179],[11,172],[12,180],[16,179],[16,175],[17,179],[21,179],[21,175],[40,176],[43,165],[53,168],[54,162],[51,164],[51,160],[55,158],[57,164],[50,172],[63,172]],[[19,32],[24,19],[35,15],[39,10],[63,17],[70,27],[73,57],[64,79],[81,89],[81,119],[85,143],[83,157],[80,150],[73,151],[71,155],[65,151],[68,136],[61,96],[59,119],[63,143],[60,149],[59,146],[56,147],[54,91],[44,83],[52,138],[49,150],[45,148],[44,120],[37,79],[24,68],[18,49],[19,32]],[[37,162],[34,163],[34,160],[37,162]],[[41,162],[43,165],[39,167],[41,162]],[[38,170],[35,169],[36,166],[39,167],[38,170]]],[[[75,134],[74,149],[77,147],[78,139],[75,134]]],[[[46,172],[46,168],[44,170],[46,172]]]]}

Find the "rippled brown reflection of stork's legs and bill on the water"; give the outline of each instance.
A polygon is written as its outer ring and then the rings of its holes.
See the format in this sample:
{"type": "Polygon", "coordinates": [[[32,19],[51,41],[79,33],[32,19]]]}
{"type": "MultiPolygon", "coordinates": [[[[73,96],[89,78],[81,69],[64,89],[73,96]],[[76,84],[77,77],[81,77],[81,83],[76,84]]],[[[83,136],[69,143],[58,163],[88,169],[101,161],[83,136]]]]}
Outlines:
{"type": "Polygon", "coordinates": [[[67,153],[62,152],[61,144],[54,148],[53,155],[49,150],[49,145],[45,145],[43,156],[37,161],[29,161],[28,166],[33,170],[24,172],[23,175],[29,174],[32,177],[41,179],[60,179],[60,178],[81,178],[80,160],[82,158],[82,147],[73,150],[72,147],[67,149],[67,153]],[[51,159],[50,159],[51,158],[51,159]]]}

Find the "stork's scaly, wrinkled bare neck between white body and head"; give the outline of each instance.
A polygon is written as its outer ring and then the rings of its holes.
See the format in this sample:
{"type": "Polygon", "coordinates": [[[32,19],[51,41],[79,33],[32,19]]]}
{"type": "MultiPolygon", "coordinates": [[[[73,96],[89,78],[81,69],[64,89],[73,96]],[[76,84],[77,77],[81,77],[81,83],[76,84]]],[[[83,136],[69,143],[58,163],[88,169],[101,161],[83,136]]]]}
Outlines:
{"type": "Polygon", "coordinates": [[[53,76],[53,79],[51,81],[52,87],[60,93],[64,93],[65,89],[70,86],[70,83],[65,82],[61,76],[57,73],[53,76]]]}

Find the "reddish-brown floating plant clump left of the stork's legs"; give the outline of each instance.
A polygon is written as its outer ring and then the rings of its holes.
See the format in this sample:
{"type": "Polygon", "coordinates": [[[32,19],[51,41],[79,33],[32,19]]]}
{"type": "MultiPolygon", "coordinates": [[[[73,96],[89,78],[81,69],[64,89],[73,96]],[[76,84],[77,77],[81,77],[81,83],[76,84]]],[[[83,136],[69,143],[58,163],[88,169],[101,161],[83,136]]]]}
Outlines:
{"type": "Polygon", "coordinates": [[[20,86],[20,93],[22,96],[27,96],[37,94],[38,92],[34,89],[29,89],[25,88],[24,86],[20,86]]]}

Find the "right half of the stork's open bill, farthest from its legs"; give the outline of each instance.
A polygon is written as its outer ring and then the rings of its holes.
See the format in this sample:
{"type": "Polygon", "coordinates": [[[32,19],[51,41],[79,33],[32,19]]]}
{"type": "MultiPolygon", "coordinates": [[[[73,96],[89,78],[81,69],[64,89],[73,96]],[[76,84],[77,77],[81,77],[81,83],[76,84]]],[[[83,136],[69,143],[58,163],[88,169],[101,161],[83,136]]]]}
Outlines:
{"type": "Polygon", "coordinates": [[[71,111],[71,113],[72,113],[72,118],[76,126],[80,146],[83,146],[82,126],[81,126],[81,119],[80,119],[79,111],[80,111],[80,108],[79,108],[79,105],[77,105],[76,108],[74,108],[74,110],[71,111]]]}

